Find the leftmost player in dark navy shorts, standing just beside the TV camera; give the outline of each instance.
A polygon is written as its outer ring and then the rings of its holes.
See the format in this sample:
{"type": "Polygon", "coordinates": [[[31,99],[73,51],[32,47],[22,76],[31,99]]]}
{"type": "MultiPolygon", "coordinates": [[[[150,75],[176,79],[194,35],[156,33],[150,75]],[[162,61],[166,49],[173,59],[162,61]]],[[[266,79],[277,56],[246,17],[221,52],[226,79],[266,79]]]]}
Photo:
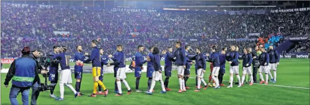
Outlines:
{"type": "MultiPolygon", "coordinates": [[[[54,51],[51,53],[51,55],[53,55],[51,57],[51,59],[56,59],[56,57],[58,56],[59,54],[59,50],[60,50],[60,46],[59,45],[55,45],[54,47],[54,51]]],[[[55,83],[57,84],[58,82],[58,65],[59,65],[59,62],[57,63],[53,63],[51,66],[50,66],[50,70],[49,70],[49,77],[48,77],[48,80],[51,81],[51,83],[55,83]]],[[[55,85],[56,87],[56,85],[55,85]]],[[[54,90],[55,90],[55,87],[53,87],[50,92],[50,97],[52,98],[57,98],[56,95],[54,95],[54,90]]]]}

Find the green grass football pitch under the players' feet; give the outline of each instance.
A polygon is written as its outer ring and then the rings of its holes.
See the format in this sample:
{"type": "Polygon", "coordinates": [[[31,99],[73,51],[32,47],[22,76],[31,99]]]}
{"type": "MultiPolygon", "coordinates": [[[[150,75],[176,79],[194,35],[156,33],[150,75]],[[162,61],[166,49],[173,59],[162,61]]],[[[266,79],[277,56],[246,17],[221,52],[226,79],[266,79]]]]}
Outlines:
{"type": "MultiPolygon", "coordinates": [[[[130,64],[130,62],[127,62],[127,64],[130,64]]],[[[162,61],[161,64],[164,64],[164,62],[162,61]]],[[[71,63],[71,65],[74,65],[74,63],[71,63]]],[[[204,75],[206,82],[208,82],[210,74],[209,65],[210,63],[207,63],[207,72],[204,75]]],[[[239,65],[241,69],[241,64],[239,65]]],[[[3,65],[3,67],[8,68],[9,65],[3,65]]],[[[309,67],[309,59],[281,59],[277,67],[276,83],[269,82],[269,85],[253,84],[253,86],[245,84],[240,88],[237,88],[237,85],[233,85],[231,89],[221,87],[218,90],[209,87],[206,90],[195,92],[195,71],[193,65],[191,69],[192,78],[187,81],[187,86],[190,87],[190,89],[186,92],[177,93],[179,89],[178,79],[176,77],[176,71],[173,71],[172,75],[174,76],[172,76],[169,81],[169,88],[173,91],[160,94],[160,83],[156,82],[155,92],[153,92],[152,95],[136,92],[127,95],[125,94],[127,89],[122,84],[124,95],[120,97],[114,96],[115,78],[113,74],[104,74],[103,83],[109,90],[107,97],[103,95],[87,97],[87,95],[93,92],[93,79],[91,74],[83,74],[80,91],[85,94],[84,96],[74,98],[74,93],[69,90],[69,88],[65,87],[63,101],[55,101],[53,98],[50,98],[50,92],[48,91],[40,93],[37,103],[38,105],[309,105],[309,67]]],[[[229,80],[228,68],[229,64],[227,63],[226,74],[223,78],[223,84],[226,86],[229,80]]],[[[240,73],[242,73],[241,70],[240,73]]],[[[273,72],[271,73],[273,74],[273,72]]],[[[6,74],[3,73],[1,74],[1,105],[10,105],[9,91],[12,84],[10,82],[8,88],[3,86],[5,75],[6,74]]],[[[134,91],[136,78],[133,73],[127,73],[126,75],[126,80],[134,91]]],[[[147,90],[147,77],[145,75],[146,74],[142,74],[139,85],[139,89],[143,91],[147,90]]],[[[259,78],[259,75],[257,75],[257,77],[259,78]]],[[[164,78],[163,76],[163,79],[164,78]]],[[[41,78],[41,81],[43,82],[44,78],[41,78]]],[[[73,87],[75,87],[75,81],[76,80],[73,78],[73,87]]],[[[54,94],[59,96],[59,85],[56,86],[54,94]]],[[[22,104],[21,95],[18,96],[18,101],[19,104],[22,104]]]]}

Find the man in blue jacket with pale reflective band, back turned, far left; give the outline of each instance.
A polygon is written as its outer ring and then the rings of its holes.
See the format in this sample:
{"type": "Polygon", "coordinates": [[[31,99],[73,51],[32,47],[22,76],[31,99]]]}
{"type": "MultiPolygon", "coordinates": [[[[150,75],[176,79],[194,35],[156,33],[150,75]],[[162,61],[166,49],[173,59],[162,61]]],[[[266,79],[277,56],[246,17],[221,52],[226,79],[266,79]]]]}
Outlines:
{"type": "Polygon", "coordinates": [[[21,92],[22,104],[28,105],[30,87],[38,81],[38,65],[36,60],[30,57],[30,52],[29,46],[24,47],[21,50],[22,57],[12,62],[6,75],[4,82],[5,87],[8,87],[9,81],[12,79],[12,87],[9,95],[12,105],[19,105],[17,101],[19,92],[21,92]]]}

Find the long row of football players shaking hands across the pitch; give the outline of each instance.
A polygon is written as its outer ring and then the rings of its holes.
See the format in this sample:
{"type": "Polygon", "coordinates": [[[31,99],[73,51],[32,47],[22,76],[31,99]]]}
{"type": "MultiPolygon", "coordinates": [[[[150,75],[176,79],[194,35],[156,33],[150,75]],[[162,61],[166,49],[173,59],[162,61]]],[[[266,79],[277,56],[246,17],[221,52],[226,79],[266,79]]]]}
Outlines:
{"type": "MultiPolygon", "coordinates": [[[[123,92],[121,90],[121,82],[124,83],[124,85],[127,87],[127,94],[130,94],[132,92],[132,89],[129,87],[126,78],[126,71],[125,71],[125,54],[122,52],[123,46],[117,45],[116,46],[116,53],[114,55],[109,55],[108,58],[112,59],[114,62],[107,63],[108,59],[104,59],[101,56],[103,55],[103,49],[97,47],[97,40],[92,41],[92,47],[93,51],[89,57],[88,60],[84,60],[84,57],[88,55],[88,53],[82,54],[82,47],[81,45],[77,45],[77,52],[75,53],[75,78],[77,79],[76,83],[76,89],[74,90],[73,87],[69,86],[69,83],[72,83],[71,78],[71,72],[69,66],[65,62],[66,60],[60,59],[60,67],[61,67],[61,73],[60,73],[60,79],[59,79],[59,85],[60,85],[60,97],[57,98],[51,90],[50,96],[53,98],[56,98],[56,100],[63,100],[63,84],[65,86],[68,86],[74,93],[75,97],[84,95],[79,92],[80,83],[82,79],[82,67],[84,63],[92,62],[92,74],[93,74],[93,80],[94,80],[94,91],[92,94],[90,94],[90,97],[96,97],[97,94],[102,94],[107,96],[108,90],[105,88],[104,84],[102,83],[102,76],[103,76],[103,65],[111,66],[114,65],[114,76],[116,77],[115,81],[115,92],[117,93],[116,96],[122,96],[123,92]],[[62,85],[62,87],[61,87],[62,85]],[[99,87],[99,92],[97,92],[97,88],[99,87]],[[103,92],[101,92],[101,88],[103,89],[103,92]]],[[[142,92],[139,90],[139,80],[141,77],[141,71],[143,69],[143,64],[147,62],[147,72],[146,76],[148,77],[148,90],[145,91],[147,94],[152,94],[153,89],[155,87],[155,81],[160,81],[162,91],[160,93],[166,93],[166,91],[171,91],[171,89],[168,88],[169,84],[169,78],[171,77],[171,71],[172,71],[172,65],[173,62],[175,63],[177,67],[177,74],[178,74],[178,80],[179,80],[179,86],[180,89],[178,90],[179,93],[186,91],[186,89],[189,89],[186,86],[186,81],[189,78],[190,75],[190,67],[193,63],[195,63],[195,69],[196,69],[196,90],[194,91],[200,91],[200,88],[202,88],[201,82],[204,84],[204,89],[208,87],[207,83],[203,79],[203,75],[206,72],[206,61],[211,62],[211,75],[210,77],[213,79],[214,89],[219,89],[220,86],[223,86],[221,84],[223,80],[223,75],[225,73],[225,63],[226,60],[229,61],[231,64],[230,67],[230,85],[227,88],[232,88],[232,80],[233,80],[233,74],[237,76],[238,80],[238,87],[241,87],[243,85],[243,81],[245,79],[245,75],[250,75],[251,82],[250,85],[252,85],[254,82],[256,82],[256,77],[253,80],[252,76],[252,65],[253,67],[259,67],[259,75],[261,78],[260,83],[268,84],[268,74],[270,73],[270,69],[274,70],[274,79],[271,76],[271,80],[273,82],[276,81],[276,66],[279,64],[279,55],[275,50],[273,50],[273,47],[270,46],[271,51],[269,53],[266,52],[264,47],[256,46],[255,50],[257,51],[253,53],[252,48],[245,48],[244,49],[244,55],[239,57],[239,54],[236,50],[238,50],[238,47],[232,45],[231,46],[231,53],[226,54],[227,48],[222,48],[220,51],[218,51],[216,46],[212,47],[212,53],[211,55],[202,54],[201,47],[197,47],[195,52],[195,56],[189,56],[188,51],[190,49],[190,45],[185,45],[185,48],[181,48],[181,42],[175,43],[175,51],[173,52],[172,47],[168,47],[167,49],[163,50],[161,52],[162,55],[165,56],[165,76],[166,78],[164,81],[162,80],[161,75],[161,65],[160,65],[160,51],[158,47],[151,46],[150,53],[147,56],[147,60],[143,60],[143,56],[141,52],[144,50],[143,45],[138,45],[135,55],[135,61],[133,63],[133,67],[135,69],[135,77],[136,77],[136,92],[142,92]],[[242,61],[243,66],[243,72],[242,72],[242,80],[240,80],[239,76],[239,60],[242,61]],[[265,73],[266,75],[266,81],[263,78],[262,73],[265,73]]],[[[58,55],[58,52],[60,50],[60,53],[65,53],[64,50],[62,50],[61,47],[55,46],[54,52],[52,55],[58,55]]],[[[57,56],[55,56],[57,57],[57,56]]],[[[67,58],[64,58],[67,59],[67,58]]],[[[49,77],[49,80],[51,83],[57,83],[58,81],[58,66],[54,65],[50,67],[49,73],[52,75],[49,77]],[[57,77],[56,77],[57,76],[57,77]]],[[[257,70],[256,70],[257,72],[257,70]]],[[[254,74],[253,74],[254,75],[254,74]]],[[[255,74],[256,75],[256,74],[255,74]]],[[[209,77],[209,78],[210,78],[209,77]]],[[[209,86],[212,86],[210,84],[211,79],[209,79],[209,86]]]]}

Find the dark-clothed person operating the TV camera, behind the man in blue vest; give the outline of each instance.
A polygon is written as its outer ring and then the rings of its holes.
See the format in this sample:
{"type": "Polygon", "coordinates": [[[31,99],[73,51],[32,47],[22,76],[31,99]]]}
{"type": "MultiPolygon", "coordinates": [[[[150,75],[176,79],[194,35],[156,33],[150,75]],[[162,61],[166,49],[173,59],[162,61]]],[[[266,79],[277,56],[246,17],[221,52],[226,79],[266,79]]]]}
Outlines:
{"type": "MultiPolygon", "coordinates": [[[[39,49],[34,49],[31,51],[31,54],[29,55],[33,60],[36,60],[38,57],[40,57],[41,55],[41,51],[39,49]]],[[[38,62],[36,61],[36,64],[38,64],[38,62]]],[[[42,70],[42,67],[40,67],[40,65],[38,65],[38,69],[39,69],[39,73],[40,74],[47,74],[47,71],[42,70]]],[[[39,91],[39,84],[40,82],[40,77],[39,75],[36,75],[36,80],[33,83],[33,86],[31,87],[32,89],[32,94],[31,94],[31,105],[37,105],[37,100],[40,94],[39,91]]]]}

